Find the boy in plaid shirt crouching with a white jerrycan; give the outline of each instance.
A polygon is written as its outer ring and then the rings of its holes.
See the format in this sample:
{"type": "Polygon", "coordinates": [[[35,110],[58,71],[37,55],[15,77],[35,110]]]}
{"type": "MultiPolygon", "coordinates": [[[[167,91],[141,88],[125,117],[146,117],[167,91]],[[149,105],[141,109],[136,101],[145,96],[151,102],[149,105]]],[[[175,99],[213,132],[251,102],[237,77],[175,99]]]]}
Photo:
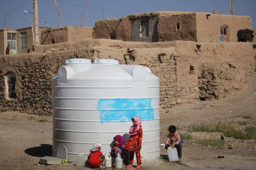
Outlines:
{"type": "Polygon", "coordinates": [[[181,161],[181,144],[180,144],[180,135],[176,132],[176,127],[174,125],[169,126],[169,134],[166,137],[165,149],[168,147],[176,148],[178,152],[179,160],[181,161]]]}

